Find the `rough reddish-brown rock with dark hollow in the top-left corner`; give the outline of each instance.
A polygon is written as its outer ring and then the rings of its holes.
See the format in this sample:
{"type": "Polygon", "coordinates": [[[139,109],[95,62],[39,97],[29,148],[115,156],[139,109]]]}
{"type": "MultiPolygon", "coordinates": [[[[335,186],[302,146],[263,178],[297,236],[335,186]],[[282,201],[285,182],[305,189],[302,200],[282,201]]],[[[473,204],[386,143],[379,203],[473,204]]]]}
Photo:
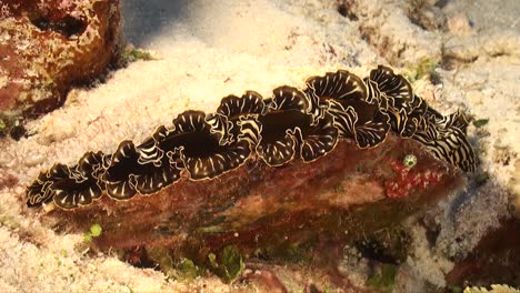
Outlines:
{"type": "Polygon", "coordinates": [[[0,111],[54,109],[71,84],[100,74],[117,52],[119,1],[0,4],[0,111]]]}

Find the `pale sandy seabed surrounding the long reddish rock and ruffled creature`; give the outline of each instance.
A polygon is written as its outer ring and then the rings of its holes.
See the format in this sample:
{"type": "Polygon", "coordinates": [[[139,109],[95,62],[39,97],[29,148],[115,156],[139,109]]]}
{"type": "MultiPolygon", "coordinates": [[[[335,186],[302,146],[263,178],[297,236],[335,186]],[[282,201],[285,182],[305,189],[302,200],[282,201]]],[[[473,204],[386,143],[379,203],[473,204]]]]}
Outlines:
{"type": "Polygon", "coordinates": [[[0,181],[18,180],[0,189],[0,292],[254,291],[217,277],[171,281],[112,255],[87,256],[76,249],[82,235],[57,234],[24,208],[24,186],[54,162],[73,164],[89,150],[113,152],[121,140],[141,141],[187,109],[213,111],[231,93],[269,97],[278,85],[302,88],[308,77],[339,68],[363,77],[379,63],[400,71],[424,58],[451,68],[437,69],[440,84],[416,81],[419,95],[443,113],[461,108],[489,119],[469,134],[490,180],[479,188],[469,180],[467,192],[432,208],[440,225],[434,249],[423,229],[411,228],[413,256],[397,284],[402,292],[446,285],[449,259],[474,247],[510,205],[520,206],[520,3],[344,3],[347,17],[338,12],[340,1],[124,1],[128,41],[157,60],[72,90],[62,108],[27,125],[34,135],[0,141],[0,181]]]}

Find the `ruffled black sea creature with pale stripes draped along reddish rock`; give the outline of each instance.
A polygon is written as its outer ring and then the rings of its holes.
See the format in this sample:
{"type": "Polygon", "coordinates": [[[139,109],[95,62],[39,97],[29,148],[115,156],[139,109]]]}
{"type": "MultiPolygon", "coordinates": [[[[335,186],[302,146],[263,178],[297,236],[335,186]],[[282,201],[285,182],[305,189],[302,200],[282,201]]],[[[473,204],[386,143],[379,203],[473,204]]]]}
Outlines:
{"type": "Polygon", "coordinates": [[[379,65],[364,79],[338,70],[309,78],[303,90],[279,87],[268,99],[254,91],[229,95],[214,113],[186,111],[172,127],[157,128],[140,144],[126,140],[112,154],[89,151],[73,166],[56,163],[28,188],[27,204],[53,202],[73,210],[103,194],[126,201],[157,193],[182,176],[216,179],[252,158],[281,166],[292,160],[319,160],[339,140],[374,148],[389,132],[419,141],[463,171],[474,171],[478,159],[467,127],[460,111],[440,114],[388,67],[379,65]]]}

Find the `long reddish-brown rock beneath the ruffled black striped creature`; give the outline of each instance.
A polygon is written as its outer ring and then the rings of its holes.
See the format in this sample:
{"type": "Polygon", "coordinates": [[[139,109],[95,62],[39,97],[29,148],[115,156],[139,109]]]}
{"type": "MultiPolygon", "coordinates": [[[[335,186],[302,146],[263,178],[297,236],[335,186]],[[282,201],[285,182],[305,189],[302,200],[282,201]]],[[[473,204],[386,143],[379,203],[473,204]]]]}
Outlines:
{"type": "Polygon", "coordinates": [[[182,179],[129,201],[104,195],[73,211],[54,209],[43,220],[77,232],[99,223],[103,233],[94,242],[101,249],[168,247],[176,256],[203,260],[232,244],[248,255],[262,251],[276,256],[280,247],[294,244],[356,241],[394,225],[462,183],[459,170],[420,143],[390,135],[371,150],[341,141],[312,163],[293,160],[271,168],[253,159],[217,179],[182,179]],[[397,164],[407,154],[414,154],[418,163],[403,171],[397,164]],[[400,196],[394,196],[396,185],[403,191],[400,196]]]}

